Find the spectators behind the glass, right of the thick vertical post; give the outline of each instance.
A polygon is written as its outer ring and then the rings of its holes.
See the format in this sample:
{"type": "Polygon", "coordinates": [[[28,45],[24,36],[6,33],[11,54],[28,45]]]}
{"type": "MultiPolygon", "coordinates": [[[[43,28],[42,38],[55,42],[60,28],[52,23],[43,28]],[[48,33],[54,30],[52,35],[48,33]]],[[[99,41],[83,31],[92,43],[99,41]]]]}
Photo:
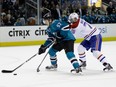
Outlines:
{"type": "Polygon", "coordinates": [[[87,0],[62,0],[62,4],[59,3],[58,0],[43,0],[42,6],[50,9],[54,19],[60,19],[76,12],[89,23],[116,23],[116,7],[112,0],[107,2],[106,8],[104,5],[96,7],[95,3],[88,7],[87,0]]]}

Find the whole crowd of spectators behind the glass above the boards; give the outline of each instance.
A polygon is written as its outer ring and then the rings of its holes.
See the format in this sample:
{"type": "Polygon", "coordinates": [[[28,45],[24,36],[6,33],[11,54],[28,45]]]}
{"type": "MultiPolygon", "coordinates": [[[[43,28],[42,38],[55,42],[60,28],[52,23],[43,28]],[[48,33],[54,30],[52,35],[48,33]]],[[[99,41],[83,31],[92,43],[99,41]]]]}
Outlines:
{"type": "MultiPolygon", "coordinates": [[[[114,0],[107,0],[107,7],[102,5],[96,7],[94,3],[91,7],[87,5],[87,0],[41,0],[41,17],[51,14],[54,19],[68,17],[72,12],[76,12],[81,18],[89,23],[116,23],[116,7],[114,0]]],[[[105,0],[106,1],[106,0],[105,0]]],[[[34,0],[37,2],[37,0],[34,0]]],[[[36,18],[33,10],[29,9],[31,16],[27,18],[25,3],[19,4],[17,0],[2,0],[1,2],[1,25],[2,26],[23,26],[36,25],[36,18]],[[33,19],[33,20],[32,20],[33,19]],[[33,22],[34,21],[34,22],[33,22]],[[33,23],[32,23],[33,22],[33,23]]],[[[42,23],[40,23],[42,24],[42,23]]]]}

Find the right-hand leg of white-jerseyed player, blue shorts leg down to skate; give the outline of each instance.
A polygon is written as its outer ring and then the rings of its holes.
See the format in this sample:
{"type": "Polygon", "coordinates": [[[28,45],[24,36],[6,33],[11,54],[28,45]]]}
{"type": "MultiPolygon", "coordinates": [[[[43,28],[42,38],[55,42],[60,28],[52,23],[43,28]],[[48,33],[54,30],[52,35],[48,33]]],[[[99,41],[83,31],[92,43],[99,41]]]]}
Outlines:
{"type": "Polygon", "coordinates": [[[93,52],[93,56],[97,58],[105,67],[103,70],[110,70],[113,67],[108,63],[106,57],[101,53],[101,45],[102,45],[102,36],[95,35],[90,39],[91,43],[91,51],[93,52]]]}

